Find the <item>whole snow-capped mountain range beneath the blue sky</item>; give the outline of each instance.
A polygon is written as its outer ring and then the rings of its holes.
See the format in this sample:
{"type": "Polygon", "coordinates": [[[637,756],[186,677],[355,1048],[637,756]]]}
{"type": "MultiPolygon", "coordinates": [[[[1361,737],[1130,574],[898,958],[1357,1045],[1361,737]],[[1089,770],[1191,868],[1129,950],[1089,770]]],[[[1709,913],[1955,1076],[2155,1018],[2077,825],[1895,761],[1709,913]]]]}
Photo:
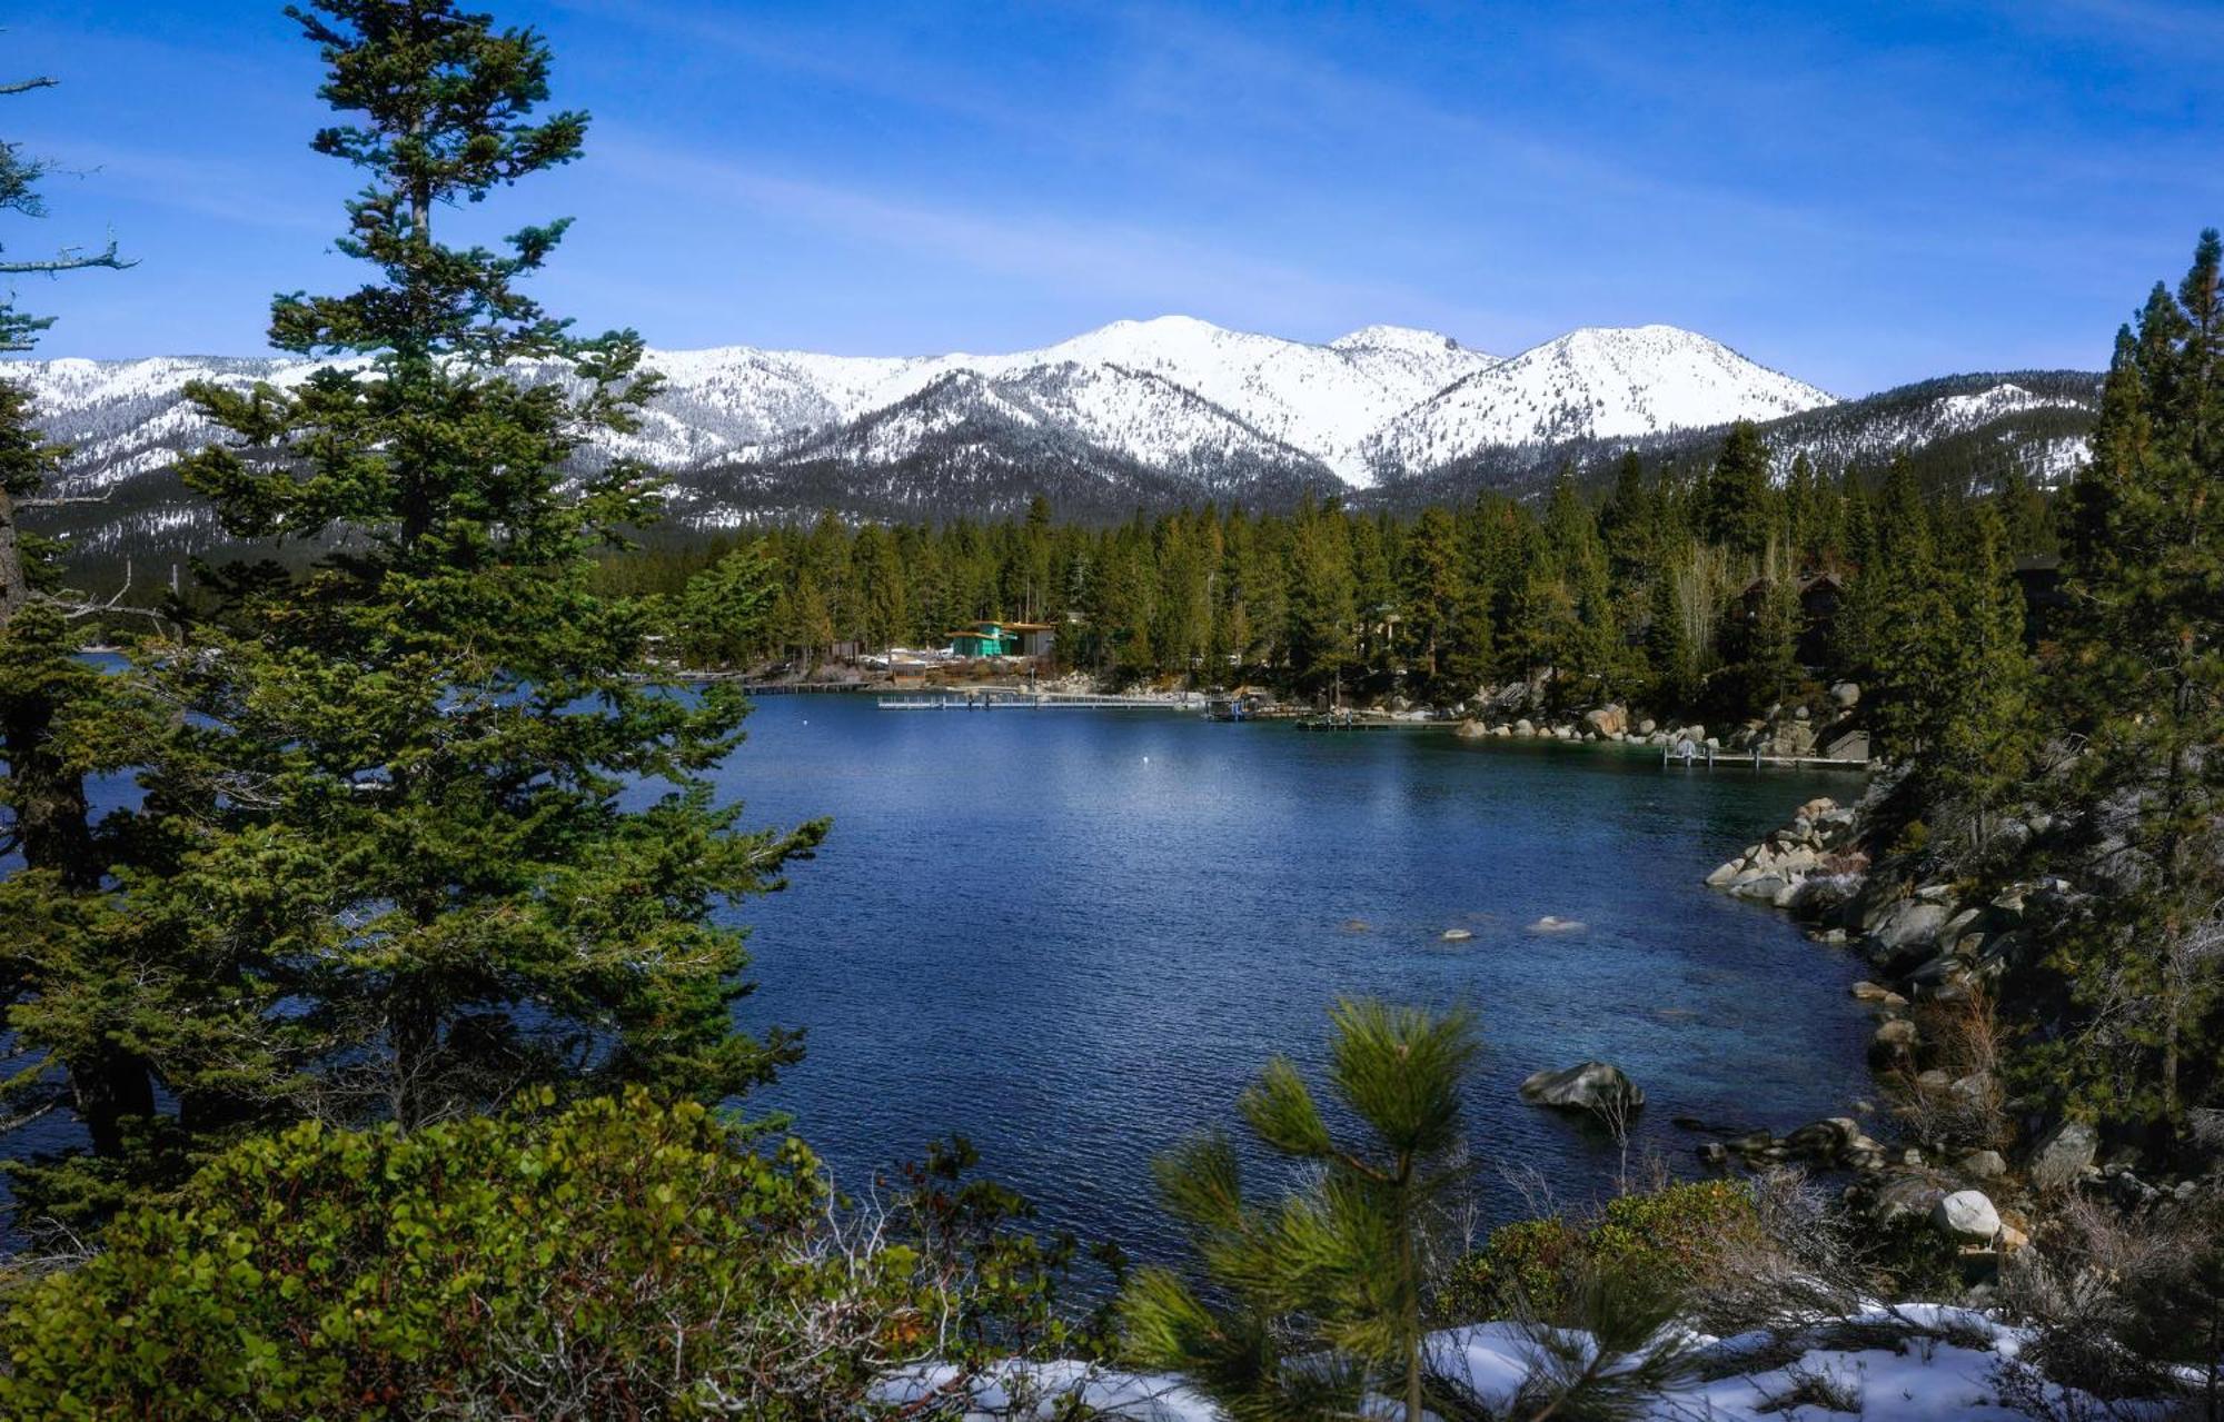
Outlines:
{"type": "MultiPolygon", "coordinates": [[[[1479,482],[1523,482],[1606,447],[1704,440],[1730,420],[1775,422],[1786,458],[1797,442],[1828,464],[1895,442],[2059,424],[2062,440],[2037,455],[2055,467],[2075,458],[2066,440],[2082,435],[2091,404],[2082,375],[1964,378],[1928,395],[1839,404],[1675,327],[1581,329],[1497,358],[1408,327],[1312,344],[1163,316],[1003,356],[718,347],[652,351],[649,364],[665,373],[665,393],[636,433],[589,458],[623,453],[663,469],[676,518],[698,527],[825,507],[987,515],[1034,493],[1079,518],[1203,500],[1274,507],[1303,493],[1463,498],[1479,482]]],[[[314,367],[151,358],[7,369],[38,391],[47,431],[76,447],[64,493],[109,495],[67,518],[67,531],[89,549],[125,551],[214,540],[207,511],[169,478],[180,451],[214,438],[180,395],[189,380],[287,387],[314,367]]]]}

